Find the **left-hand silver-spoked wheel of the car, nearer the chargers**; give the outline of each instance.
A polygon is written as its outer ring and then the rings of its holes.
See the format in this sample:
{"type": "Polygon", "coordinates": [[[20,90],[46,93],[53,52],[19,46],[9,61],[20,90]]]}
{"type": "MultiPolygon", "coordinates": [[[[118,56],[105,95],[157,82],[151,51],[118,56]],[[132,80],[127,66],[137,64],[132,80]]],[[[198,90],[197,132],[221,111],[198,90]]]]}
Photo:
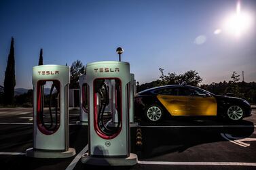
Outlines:
{"type": "Polygon", "coordinates": [[[158,104],[152,104],[145,109],[145,117],[149,122],[159,122],[163,116],[164,112],[158,104]]]}

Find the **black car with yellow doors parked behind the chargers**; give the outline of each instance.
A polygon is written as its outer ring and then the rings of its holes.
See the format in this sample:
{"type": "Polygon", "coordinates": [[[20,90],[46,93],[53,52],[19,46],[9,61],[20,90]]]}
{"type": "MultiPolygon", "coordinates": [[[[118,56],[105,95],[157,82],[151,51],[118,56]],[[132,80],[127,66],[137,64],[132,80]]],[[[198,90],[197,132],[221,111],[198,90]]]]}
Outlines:
{"type": "Polygon", "coordinates": [[[190,85],[166,85],[146,89],[135,95],[135,114],[147,121],[171,116],[223,116],[239,121],[251,115],[249,102],[241,98],[215,95],[190,85]]]}

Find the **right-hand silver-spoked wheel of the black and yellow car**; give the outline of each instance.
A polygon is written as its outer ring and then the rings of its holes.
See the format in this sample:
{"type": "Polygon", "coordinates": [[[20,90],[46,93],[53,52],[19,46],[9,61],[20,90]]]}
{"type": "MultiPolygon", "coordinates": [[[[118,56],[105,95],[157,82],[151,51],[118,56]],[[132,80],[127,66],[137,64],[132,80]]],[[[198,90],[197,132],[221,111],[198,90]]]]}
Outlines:
{"type": "Polygon", "coordinates": [[[244,116],[244,110],[237,105],[232,105],[227,108],[227,118],[231,121],[239,121],[244,116]]]}

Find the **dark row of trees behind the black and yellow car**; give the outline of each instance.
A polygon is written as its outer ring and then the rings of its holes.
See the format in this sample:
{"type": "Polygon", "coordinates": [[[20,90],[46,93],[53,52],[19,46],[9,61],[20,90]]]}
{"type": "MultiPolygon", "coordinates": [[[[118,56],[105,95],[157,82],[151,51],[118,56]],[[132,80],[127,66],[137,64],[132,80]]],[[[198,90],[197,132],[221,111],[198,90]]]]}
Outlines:
{"type": "Polygon", "coordinates": [[[256,104],[256,83],[240,81],[240,75],[235,71],[232,72],[231,81],[213,82],[210,85],[205,85],[202,84],[202,78],[198,75],[196,70],[189,70],[180,75],[177,75],[175,72],[168,72],[168,75],[164,75],[164,69],[159,68],[159,70],[160,79],[141,85],[139,82],[136,82],[136,91],[139,92],[162,85],[179,85],[185,82],[187,85],[200,87],[218,95],[230,95],[237,98],[244,98],[250,103],[256,104]]]}

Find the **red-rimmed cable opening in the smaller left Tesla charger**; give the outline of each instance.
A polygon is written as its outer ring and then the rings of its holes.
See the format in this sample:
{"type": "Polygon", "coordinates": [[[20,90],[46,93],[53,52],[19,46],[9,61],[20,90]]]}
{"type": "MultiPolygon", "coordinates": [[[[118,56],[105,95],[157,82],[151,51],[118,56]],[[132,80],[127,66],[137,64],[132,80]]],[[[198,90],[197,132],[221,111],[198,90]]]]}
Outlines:
{"type": "Polygon", "coordinates": [[[37,127],[50,135],[60,127],[60,82],[37,82],[37,127]]]}

